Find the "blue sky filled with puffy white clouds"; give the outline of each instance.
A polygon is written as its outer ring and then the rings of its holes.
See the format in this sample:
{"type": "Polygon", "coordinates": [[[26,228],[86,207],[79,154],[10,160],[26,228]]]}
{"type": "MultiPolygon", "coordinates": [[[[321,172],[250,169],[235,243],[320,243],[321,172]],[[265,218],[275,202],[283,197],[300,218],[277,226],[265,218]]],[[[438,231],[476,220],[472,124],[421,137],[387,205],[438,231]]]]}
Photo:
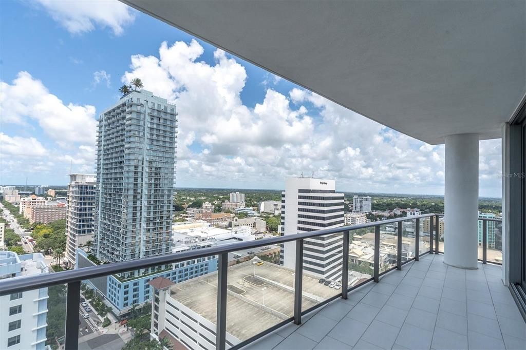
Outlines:
{"type": "MultiPolygon", "coordinates": [[[[346,191],[443,193],[443,146],[122,3],[6,1],[0,21],[2,184],[65,184],[70,164],[93,172],[96,118],[138,76],[178,106],[178,186],[280,189],[315,171],[346,191]]],[[[480,194],[499,197],[499,140],[481,142],[481,155],[480,194]]]]}

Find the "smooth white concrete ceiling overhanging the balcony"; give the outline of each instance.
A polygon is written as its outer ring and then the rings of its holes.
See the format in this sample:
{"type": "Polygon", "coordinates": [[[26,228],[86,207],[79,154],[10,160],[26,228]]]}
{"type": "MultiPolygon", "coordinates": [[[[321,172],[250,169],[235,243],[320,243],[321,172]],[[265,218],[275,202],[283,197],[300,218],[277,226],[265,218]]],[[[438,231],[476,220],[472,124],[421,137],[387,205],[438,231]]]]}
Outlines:
{"type": "Polygon", "coordinates": [[[501,136],[526,92],[526,1],[124,0],[431,144],[501,136]]]}

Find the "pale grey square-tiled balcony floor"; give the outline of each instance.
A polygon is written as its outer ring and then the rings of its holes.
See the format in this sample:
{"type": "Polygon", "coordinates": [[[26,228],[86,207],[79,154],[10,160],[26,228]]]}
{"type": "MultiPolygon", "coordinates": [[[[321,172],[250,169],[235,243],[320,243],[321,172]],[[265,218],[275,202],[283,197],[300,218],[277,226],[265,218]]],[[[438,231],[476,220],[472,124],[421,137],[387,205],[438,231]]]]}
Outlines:
{"type": "Polygon", "coordinates": [[[427,254],[244,349],[526,350],[501,267],[462,270],[427,254]]]}

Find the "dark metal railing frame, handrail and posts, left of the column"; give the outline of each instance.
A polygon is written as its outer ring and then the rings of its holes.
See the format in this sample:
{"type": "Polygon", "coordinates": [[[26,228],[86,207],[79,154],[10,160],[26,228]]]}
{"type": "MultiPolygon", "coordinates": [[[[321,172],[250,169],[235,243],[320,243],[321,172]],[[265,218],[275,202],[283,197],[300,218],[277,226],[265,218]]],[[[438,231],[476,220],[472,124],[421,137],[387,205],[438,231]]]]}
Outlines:
{"type": "MultiPolygon", "coordinates": [[[[392,270],[402,269],[402,265],[409,263],[413,260],[418,261],[421,255],[427,254],[424,252],[419,254],[419,239],[420,239],[420,219],[430,218],[432,221],[433,217],[436,217],[436,222],[438,223],[439,215],[431,214],[422,214],[414,217],[405,217],[405,218],[396,218],[382,221],[369,222],[364,224],[352,225],[352,226],[343,226],[332,229],[318,230],[312,232],[302,232],[292,235],[284,235],[278,237],[272,237],[267,239],[261,239],[257,241],[247,241],[232,243],[228,245],[220,245],[206,249],[186,251],[180,253],[171,253],[166,255],[153,256],[145,259],[130,260],[125,262],[118,262],[112,264],[103,264],[97,266],[84,267],[83,269],[78,270],[68,270],[57,273],[50,274],[41,274],[27,277],[19,277],[16,279],[6,279],[0,281],[0,296],[7,295],[15,292],[24,292],[28,290],[35,290],[39,288],[49,287],[58,284],[67,284],[67,302],[66,302],[66,336],[65,336],[65,346],[67,349],[77,349],[78,348],[78,312],[79,312],[79,298],[80,298],[80,283],[84,280],[94,279],[96,277],[107,276],[111,274],[118,274],[122,272],[135,271],[141,269],[147,269],[148,267],[153,267],[157,265],[171,264],[183,262],[191,259],[204,258],[206,256],[218,255],[218,284],[217,284],[217,325],[216,325],[216,348],[218,350],[224,350],[226,347],[226,310],[227,310],[227,279],[228,279],[228,253],[246,250],[252,248],[258,248],[260,246],[267,246],[270,244],[281,244],[285,242],[296,242],[296,266],[295,266],[295,289],[294,289],[294,317],[284,320],[274,327],[268,328],[268,330],[257,334],[250,339],[246,339],[241,343],[235,345],[232,348],[240,348],[254,341],[255,339],[268,334],[276,330],[278,327],[285,325],[289,322],[294,322],[295,324],[301,323],[301,316],[309,313],[316,308],[329,303],[336,298],[347,298],[348,292],[362,286],[363,284],[370,281],[379,281],[379,277],[385,273],[388,273],[392,270]],[[412,259],[402,263],[402,222],[403,221],[412,221],[416,222],[416,254],[412,259]],[[397,252],[397,264],[396,266],[383,271],[380,273],[380,226],[398,223],[398,252],[397,252]],[[309,238],[315,238],[327,234],[342,233],[343,234],[343,254],[342,254],[342,272],[348,272],[349,264],[349,236],[350,231],[355,231],[359,229],[366,228],[375,228],[375,256],[374,256],[374,269],[373,277],[370,280],[361,283],[360,285],[353,286],[348,288],[348,283],[342,283],[342,291],[335,296],[328,298],[327,300],[309,308],[308,310],[301,310],[301,296],[302,296],[302,270],[303,270],[303,246],[304,240],[309,238]],[[347,286],[347,287],[343,287],[347,286]],[[73,318],[74,321],[70,321],[73,318]]],[[[432,227],[432,224],[431,224],[432,227]]],[[[432,249],[432,231],[429,235],[430,238],[430,251],[433,253],[432,249]]],[[[438,230],[436,238],[436,253],[438,254],[438,230]]],[[[342,282],[348,281],[348,273],[343,274],[342,282]]]]}

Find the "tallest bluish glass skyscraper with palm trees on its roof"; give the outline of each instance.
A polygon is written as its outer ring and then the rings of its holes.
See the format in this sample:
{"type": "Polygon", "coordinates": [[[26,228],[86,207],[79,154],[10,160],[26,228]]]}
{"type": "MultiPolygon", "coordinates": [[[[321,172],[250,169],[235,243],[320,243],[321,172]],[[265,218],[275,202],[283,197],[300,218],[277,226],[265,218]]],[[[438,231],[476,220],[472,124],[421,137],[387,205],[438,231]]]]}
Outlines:
{"type": "Polygon", "coordinates": [[[171,252],[175,108],[140,90],[99,117],[94,248],[101,261],[171,252]]]}

